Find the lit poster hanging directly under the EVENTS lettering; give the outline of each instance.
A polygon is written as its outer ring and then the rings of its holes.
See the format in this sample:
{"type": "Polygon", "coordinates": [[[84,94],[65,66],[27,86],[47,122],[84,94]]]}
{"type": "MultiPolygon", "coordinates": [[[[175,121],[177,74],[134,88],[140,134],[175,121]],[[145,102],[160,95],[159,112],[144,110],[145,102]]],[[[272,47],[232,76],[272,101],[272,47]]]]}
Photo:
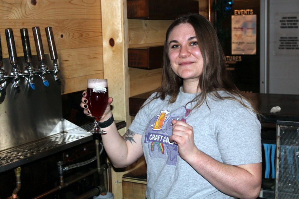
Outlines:
{"type": "Polygon", "coordinates": [[[231,54],[256,54],[256,15],[231,16],[231,54]]]}

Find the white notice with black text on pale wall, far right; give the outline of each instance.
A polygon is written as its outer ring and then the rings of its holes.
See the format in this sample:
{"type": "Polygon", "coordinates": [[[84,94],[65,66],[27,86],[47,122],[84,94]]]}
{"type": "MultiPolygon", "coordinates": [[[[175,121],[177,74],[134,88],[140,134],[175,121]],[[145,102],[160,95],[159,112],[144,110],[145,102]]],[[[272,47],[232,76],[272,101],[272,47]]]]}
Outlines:
{"type": "Polygon", "coordinates": [[[299,54],[299,13],[279,13],[275,15],[274,55],[299,54]]]}

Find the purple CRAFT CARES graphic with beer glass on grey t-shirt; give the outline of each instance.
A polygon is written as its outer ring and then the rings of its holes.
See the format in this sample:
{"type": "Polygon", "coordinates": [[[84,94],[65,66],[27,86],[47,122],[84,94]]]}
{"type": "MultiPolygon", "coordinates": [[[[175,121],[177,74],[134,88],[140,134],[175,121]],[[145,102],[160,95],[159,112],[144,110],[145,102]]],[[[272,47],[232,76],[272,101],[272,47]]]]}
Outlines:
{"type": "Polygon", "coordinates": [[[166,164],[176,165],[178,146],[169,142],[169,136],[172,135],[172,120],[186,122],[189,113],[190,109],[182,106],[171,113],[168,110],[162,110],[150,120],[144,140],[144,143],[148,144],[150,158],[162,158],[166,164]]]}

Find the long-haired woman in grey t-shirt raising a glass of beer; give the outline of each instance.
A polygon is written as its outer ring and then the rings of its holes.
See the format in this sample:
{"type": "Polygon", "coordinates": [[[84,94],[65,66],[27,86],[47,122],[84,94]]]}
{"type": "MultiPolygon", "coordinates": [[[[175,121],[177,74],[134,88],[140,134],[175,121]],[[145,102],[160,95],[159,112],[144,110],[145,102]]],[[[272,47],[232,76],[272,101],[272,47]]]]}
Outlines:
{"type": "MultiPolygon", "coordinates": [[[[124,137],[112,122],[109,99],[100,122],[112,164],[126,167],[145,155],[147,199],[258,197],[261,125],[228,78],[205,17],[184,15],[169,26],[162,75],[124,137]]],[[[90,115],[85,96],[81,107],[90,115]]]]}

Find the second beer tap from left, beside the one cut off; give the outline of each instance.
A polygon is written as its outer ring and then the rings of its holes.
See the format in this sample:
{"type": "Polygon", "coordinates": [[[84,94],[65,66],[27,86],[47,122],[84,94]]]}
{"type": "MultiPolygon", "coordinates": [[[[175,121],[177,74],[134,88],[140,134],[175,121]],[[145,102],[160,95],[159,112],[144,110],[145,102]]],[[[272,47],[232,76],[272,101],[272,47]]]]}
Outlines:
{"type": "Polygon", "coordinates": [[[16,46],[15,46],[15,40],[13,37],[13,32],[11,28],[5,29],[5,35],[6,35],[6,42],[7,42],[7,49],[9,54],[9,60],[10,64],[12,65],[12,72],[10,75],[8,75],[8,78],[12,81],[12,84],[14,86],[14,89],[19,93],[20,86],[19,86],[19,69],[17,67],[17,52],[16,52],[16,46]]]}

